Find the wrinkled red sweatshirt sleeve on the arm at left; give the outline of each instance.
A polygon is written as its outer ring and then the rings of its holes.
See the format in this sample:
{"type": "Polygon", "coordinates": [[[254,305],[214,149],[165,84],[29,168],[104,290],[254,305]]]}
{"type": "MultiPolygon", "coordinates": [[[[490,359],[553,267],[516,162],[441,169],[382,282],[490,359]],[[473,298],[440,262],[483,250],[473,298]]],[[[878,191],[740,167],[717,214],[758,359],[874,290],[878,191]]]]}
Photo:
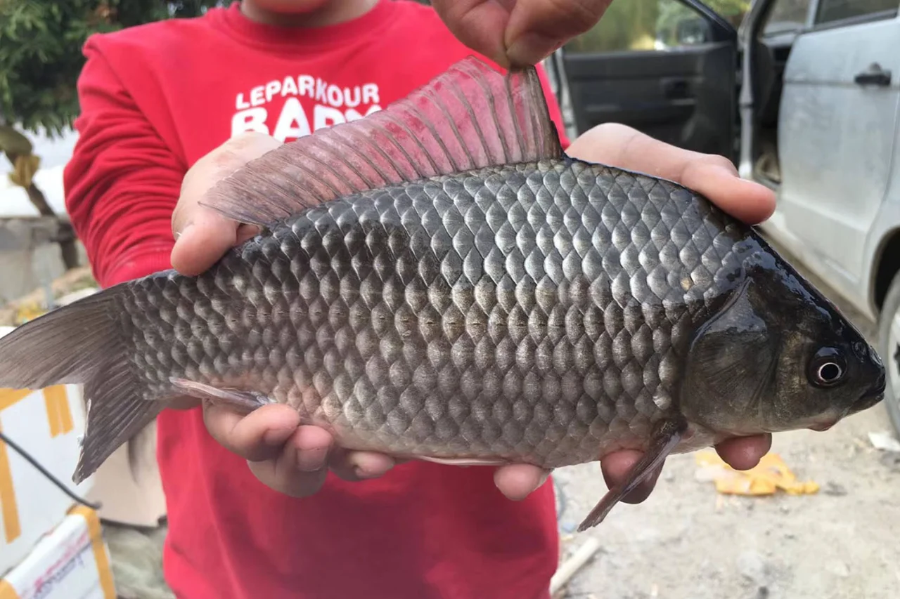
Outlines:
{"type": "Polygon", "coordinates": [[[72,225],[102,287],[171,267],[172,211],[187,168],[92,40],[78,79],[78,140],[63,181],[72,225]]]}

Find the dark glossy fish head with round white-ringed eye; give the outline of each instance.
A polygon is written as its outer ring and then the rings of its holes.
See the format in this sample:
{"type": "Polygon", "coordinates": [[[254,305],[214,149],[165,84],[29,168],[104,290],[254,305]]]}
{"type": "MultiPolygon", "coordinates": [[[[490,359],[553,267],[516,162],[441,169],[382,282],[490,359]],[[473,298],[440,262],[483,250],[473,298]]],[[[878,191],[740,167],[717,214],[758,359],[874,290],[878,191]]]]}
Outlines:
{"type": "Polygon", "coordinates": [[[680,393],[689,421],[723,435],[824,431],[884,398],[878,352],[761,242],[698,327],[680,393]]]}

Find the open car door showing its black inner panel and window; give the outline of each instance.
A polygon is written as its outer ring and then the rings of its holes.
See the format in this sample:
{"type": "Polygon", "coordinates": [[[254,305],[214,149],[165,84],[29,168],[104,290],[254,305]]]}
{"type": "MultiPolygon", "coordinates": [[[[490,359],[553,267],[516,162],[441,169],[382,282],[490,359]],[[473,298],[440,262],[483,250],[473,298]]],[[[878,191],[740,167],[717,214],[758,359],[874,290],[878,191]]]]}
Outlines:
{"type": "Polygon", "coordinates": [[[734,160],[736,37],[697,0],[614,0],[551,61],[570,135],[620,122],[734,160]]]}

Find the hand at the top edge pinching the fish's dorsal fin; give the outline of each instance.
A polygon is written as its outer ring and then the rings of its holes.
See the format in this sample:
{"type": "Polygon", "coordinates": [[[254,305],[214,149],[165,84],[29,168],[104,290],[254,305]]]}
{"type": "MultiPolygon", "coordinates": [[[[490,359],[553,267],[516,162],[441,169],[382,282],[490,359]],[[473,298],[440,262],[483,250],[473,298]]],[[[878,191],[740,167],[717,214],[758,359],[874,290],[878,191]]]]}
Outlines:
{"type": "Polygon", "coordinates": [[[501,67],[536,65],[589,31],[612,0],[432,0],[457,40],[501,67]]]}

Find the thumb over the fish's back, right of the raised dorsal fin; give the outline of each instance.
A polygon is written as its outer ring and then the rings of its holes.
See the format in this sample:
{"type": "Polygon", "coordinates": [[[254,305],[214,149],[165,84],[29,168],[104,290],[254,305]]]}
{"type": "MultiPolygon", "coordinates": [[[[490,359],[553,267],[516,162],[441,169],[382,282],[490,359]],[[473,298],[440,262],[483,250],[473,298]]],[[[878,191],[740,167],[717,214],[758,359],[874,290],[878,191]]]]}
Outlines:
{"type": "Polygon", "coordinates": [[[750,224],[768,219],[775,210],[775,193],[742,179],[727,158],[678,148],[625,125],[599,125],[572,141],[566,151],[582,160],[680,183],[750,224]]]}

